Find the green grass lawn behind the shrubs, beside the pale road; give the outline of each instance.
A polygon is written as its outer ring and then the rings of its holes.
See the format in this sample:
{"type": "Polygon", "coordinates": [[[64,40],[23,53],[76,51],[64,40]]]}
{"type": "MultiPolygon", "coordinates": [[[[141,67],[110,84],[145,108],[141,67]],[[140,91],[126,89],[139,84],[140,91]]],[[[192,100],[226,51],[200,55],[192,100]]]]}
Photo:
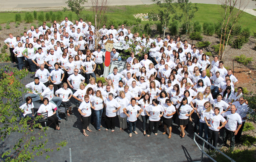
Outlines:
{"type": "MultiPolygon", "coordinates": [[[[199,7],[198,12],[195,13],[194,21],[199,21],[202,25],[204,22],[218,22],[221,18],[219,14],[218,5],[212,4],[197,4],[199,7]]],[[[110,6],[108,8],[107,17],[108,19],[114,20],[128,20],[128,21],[135,21],[133,14],[140,14],[140,13],[148,13],[152,9],[157,9],[157,5],[138,5],[138,6],[110,6]]],[[[177,10],[178,12],[181,12],[177,10]]],[[[71,11],[66,11],[63,13],[63,20],[64,17],[67,16],[71,11]]],[[[92,14],[92,11],[84,11],[84,14],[92,14]]],[[[6,23],[7,21],[13,22],[16,13],[0,13],[0,23],[6,23]]],[[[24,19],[25,13],[21,12],[21,17],[24,19]]],[[[39,14],[39,12],[38,12],[39,14]]],[[[77,16],[73,13],[73,19],[77,16]]],[[[141,24],[146,24],[148,21],[142,21],[141,24]]],[[[242,26],[242,28],[250,28],[251,34],[253,31],[256,32],[256,17],[247,13],[244,13],[243,17],[238,21],[238,23],[242,26]]]]}

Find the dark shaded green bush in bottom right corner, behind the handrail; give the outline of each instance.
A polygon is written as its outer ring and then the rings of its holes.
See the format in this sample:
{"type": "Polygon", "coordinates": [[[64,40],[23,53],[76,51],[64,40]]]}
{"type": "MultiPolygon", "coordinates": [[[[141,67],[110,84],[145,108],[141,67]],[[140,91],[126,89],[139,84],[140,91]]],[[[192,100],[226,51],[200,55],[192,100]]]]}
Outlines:
{"type": "MultiPolygon", "coordinates": [[[[221,152],[223,152],[224,154],[226,154],[227,156],[229,156],[231,159],[233,159],[236,162],[253,162],[255,161],[255,150],[248,150],[248,149],[236,149],[233,150],[233,148],[229,148],[229,149],[225,149],[225,148],[221,148],[220,149],[221,152]]],[[[222,154],[220,154],[217,151],[208,151],[207,154],[209,156],[211,156],[213,159],[215,159],[215,161],[217,162],[228,162],[230,160],[228,160],[225,156],[223,156],[222,154]]]]}

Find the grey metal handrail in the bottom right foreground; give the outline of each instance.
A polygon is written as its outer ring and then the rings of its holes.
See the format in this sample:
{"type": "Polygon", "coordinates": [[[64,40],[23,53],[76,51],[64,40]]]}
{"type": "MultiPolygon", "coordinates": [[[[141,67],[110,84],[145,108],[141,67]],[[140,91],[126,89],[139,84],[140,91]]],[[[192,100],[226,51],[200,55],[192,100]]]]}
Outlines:
{"type": "Polygon", "coordinates": [[[226,154],[224,154],[223,152],[221,152],[218,148],[215,148],[213,145],[211,145],[209,142],[207,142],[206,140],[204,140],[202,137],[200,137],[198,134],[194,133],[194,138],[193,140],[195,141],[195,144],[198,146],[199,150],[202,152],[201,155],[201,162],[203,162],[203,156],[206,155],[207,157],[209,157],[212,161],[217,162],[216,160],[212,159],[211,156],[209,156],[205,151],[204,151],[204,144],[207,143],[207,145],[210,145],[212,148],[214,148],[216,151],[218,151],[219,153],[221,153],[223,156],[225,156],[227,159],[229,159],[231,162],[236,162],[235,160],[231,159],[229,156],[227,156],[226,154]],[[195,137],[198,137],[199,139],[201,139],[203,141],[203,147],[200,148],[200,146],[198,145],[198,142],[196,142],[195,137]]]}

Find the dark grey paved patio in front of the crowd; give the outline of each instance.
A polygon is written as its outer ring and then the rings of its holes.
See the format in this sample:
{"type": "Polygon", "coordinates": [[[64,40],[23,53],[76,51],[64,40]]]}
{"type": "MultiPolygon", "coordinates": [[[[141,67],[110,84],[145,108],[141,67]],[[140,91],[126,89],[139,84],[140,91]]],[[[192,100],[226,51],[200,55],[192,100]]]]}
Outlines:
{"type": "MultiPolygon", "coordinates": [[[[0,63],[0,67],[7,63],[0,63]]],[[[15,64],[11,64],[14,66],[15,64]]],[[[34,81],[32,75],[28,75],[23,79],[23,84],[34,81]]],[[[186,132],[186,136],[180,139],[180,128],[177,125],[172,127],[172,138],[168,139],[168,135],[162,135],[163,128],[160,128],[158,135],[153,133],[150,137],[145,137],[142,131],[142,120],[137,122],[138,134],[132,134],[129,137],[128,131],[119,130],[119,122],[116,119],[116,128],[114,132],[105,131],[105,123],[102,121],[101,131],[96,131],[94,126],[90,124],[92,132],[87,132],[89,137],[84,137],[81,129],[80,115],[77,108],[73,104],[74,115],[68,117],[68,121],[64,120],[64,115],[60,123],[61,130],[55,131],[49,128],[47,138],[49,140],[47,147],[54,147],[56,142],[67,140],[67,145],[61,148],[61,151],[49,152],[49,159],[44,156],[35,157],[38,162],[70,162],[69,148],[72,150],[73,162],[192,162],[198,161],[201,152],[192,140],[192,125],[186,132]]],[[[148,126],[148,125],[147,125],[148,126]]],[[[35,129],[34,133],[39,130],[35,129]]],[[[31,133],[32,134],[32,133],[31,133]]],[[[7,148],[12,148],[22,134],[14,133],[9,138],[7,148]]],[[[38,141],[38,143],[41,141],[38,141]]]]}

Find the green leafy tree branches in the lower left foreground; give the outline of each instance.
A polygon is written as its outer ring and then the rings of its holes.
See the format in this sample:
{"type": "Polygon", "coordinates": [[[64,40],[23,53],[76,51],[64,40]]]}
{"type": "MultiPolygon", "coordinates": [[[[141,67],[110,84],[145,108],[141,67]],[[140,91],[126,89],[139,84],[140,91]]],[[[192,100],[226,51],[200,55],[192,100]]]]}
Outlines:
{"type": "MultiPolygon", "coordinates": [[[[40,131],[31,132],[28,130],[28,118],[17,120],[20,116],[19,101],[22,98],[22,89],[24,85],[20,80],[23,79],[28,72],[19,71],[17,68],[0,70],[0,150],[1,161],[5,162],[28,162],[36,156],[41,156],[46,152],[60,150],[66,145],[66,141],[56,143],[54,148],[47,148],[48,140],[47,127],[40,131]],[[37,132],[37,133],[36,133],[37,132]],[[21,135],[21,137],[15,135],[21,135]],[[10,137],[15,136],[17,142],[9,141],[10,137]],[[38,142],[39,141],[39,142],[38,142]],[[8,148],[12,145],[12,148],[8,148]]],[[[38,119],[40,116],[36,117],[38,119]]],[[[32,127],[37,128],[39,124],[32,122],[32,127]]],[[[47,155],[46,158],[49,156],[47,155]]]]}

